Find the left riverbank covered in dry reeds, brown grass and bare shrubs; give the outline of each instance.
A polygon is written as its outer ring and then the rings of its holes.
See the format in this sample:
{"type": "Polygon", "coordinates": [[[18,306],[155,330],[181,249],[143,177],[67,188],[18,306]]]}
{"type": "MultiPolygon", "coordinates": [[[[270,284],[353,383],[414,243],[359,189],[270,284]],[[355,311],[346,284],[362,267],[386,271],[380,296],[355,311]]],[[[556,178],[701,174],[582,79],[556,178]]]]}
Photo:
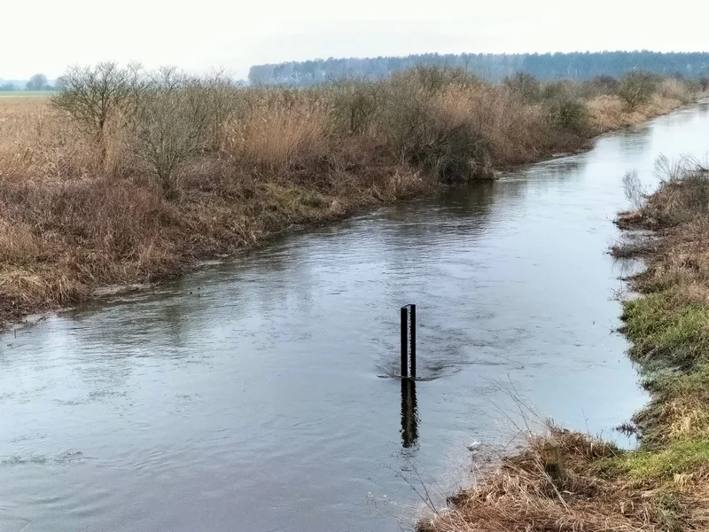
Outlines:
{"type": "Polygon", "coordinates": [[[4,325],[293,227],[583,149],[701,90],[640,74],[494,85],[437,68],[308,90],[105,65],[69,74],[55,105],[0,99],[4,325]]]}

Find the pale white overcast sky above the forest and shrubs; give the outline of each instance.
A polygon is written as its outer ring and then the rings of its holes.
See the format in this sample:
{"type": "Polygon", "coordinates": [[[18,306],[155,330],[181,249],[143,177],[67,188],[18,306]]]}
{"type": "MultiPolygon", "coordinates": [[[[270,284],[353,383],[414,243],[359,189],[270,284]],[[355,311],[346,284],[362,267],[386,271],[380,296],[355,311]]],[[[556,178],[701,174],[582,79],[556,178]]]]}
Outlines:
{"type": "Polygon", "coordinates": [[[245,78],[253,64],[327,57],[709,51],[707,16],[705,0],[4,0],[0,77],[105,59],[245,78]]]}

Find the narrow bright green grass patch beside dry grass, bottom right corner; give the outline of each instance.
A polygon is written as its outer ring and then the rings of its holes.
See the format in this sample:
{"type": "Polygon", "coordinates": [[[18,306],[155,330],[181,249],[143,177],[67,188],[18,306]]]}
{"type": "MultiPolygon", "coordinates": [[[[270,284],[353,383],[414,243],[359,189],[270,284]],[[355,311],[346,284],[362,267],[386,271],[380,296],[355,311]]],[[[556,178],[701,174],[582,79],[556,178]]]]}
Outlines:
{"type": "Polygon", "coordinates": [[[635,481],[671,481],[709,463],[709,440],[673,442],[660,450],[636,450],[599,463],[605,473],[627,474],[635,481]]]}

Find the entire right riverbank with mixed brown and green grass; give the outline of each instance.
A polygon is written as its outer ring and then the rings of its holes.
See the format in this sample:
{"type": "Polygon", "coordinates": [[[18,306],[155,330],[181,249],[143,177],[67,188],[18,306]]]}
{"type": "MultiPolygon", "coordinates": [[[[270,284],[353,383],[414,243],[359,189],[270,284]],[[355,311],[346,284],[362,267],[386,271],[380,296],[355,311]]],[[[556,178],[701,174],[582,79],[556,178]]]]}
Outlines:
{"type": "Polygon", "coordinates": [[[635,233],[614,249],[648,262],[623,313],[629,355],[651,392],[633,420],[640,448],[550,427],[422,532],[709,529],[709,170],[659,167],[666,178],[649,196],[628,178],[637,208],[618,219],[651,236],[635,233]],[[544,473],[549,449],[563,464],[556,480],[544,473]]]}

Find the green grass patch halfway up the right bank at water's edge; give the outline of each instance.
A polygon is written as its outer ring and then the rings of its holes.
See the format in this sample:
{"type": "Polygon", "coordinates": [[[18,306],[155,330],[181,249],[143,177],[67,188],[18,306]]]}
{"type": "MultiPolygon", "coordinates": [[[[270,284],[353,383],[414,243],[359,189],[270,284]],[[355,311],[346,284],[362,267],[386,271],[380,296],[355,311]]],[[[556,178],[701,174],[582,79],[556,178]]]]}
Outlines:
{"type": "Polygon", "coordinates": [[[685,367],[709,361],[709,307],[678,301],[670,289],[627,301],[623,319],[635,360],[652,355],[685,367]]]}

